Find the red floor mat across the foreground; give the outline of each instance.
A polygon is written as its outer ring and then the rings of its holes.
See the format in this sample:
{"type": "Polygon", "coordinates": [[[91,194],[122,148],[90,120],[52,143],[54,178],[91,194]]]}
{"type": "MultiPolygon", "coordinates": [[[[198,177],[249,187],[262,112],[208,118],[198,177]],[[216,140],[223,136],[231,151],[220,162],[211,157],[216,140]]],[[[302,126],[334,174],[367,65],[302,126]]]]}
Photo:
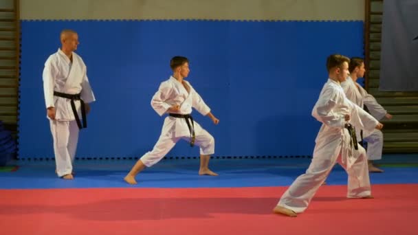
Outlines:
{"type": "Polygon", "coordinates": [[[418,185],[375,199],[322,186],[297,218],[272,214],[286,188],[0,190],[1,234],[416,234],[418,185]]]}

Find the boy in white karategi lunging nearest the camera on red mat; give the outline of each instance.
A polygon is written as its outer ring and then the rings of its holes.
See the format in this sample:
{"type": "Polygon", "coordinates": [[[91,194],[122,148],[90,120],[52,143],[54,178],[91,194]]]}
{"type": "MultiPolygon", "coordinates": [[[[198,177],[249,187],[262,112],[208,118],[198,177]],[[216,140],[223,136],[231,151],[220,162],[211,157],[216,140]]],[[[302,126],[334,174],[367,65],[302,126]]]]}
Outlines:
{"type": "Polygon", "coordinates": [[[346,98],[340,82],[349,74],[349,58],[338,54],[329,56],[327,70],[328,81],[312,110],[322,126],[311,164],[278,201],[273,210],[277,214],[295,217],[304,212],[337,162],[349,175],[347,197],[373,198],[366,152],[356,141],[353,126],[373,131],[382,128],[382,124],[346,98]]]}

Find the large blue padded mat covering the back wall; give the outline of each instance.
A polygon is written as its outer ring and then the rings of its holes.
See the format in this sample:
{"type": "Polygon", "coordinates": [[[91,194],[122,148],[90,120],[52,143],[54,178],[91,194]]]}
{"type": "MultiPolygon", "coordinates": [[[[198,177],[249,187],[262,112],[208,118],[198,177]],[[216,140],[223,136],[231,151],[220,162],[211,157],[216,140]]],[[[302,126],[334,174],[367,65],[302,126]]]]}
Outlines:
{"type": "MultiPolygon", "coordinates": [[[[190,58],[188,80],[221,120],[194,117],[217,156],[311,155],[320,127],[311,109],[327,80],[329,54],[363,55],[362,21],[22,21],[19,157],[53,157],[43,100],[43,64],[59,32],[79,33],[97,102],[78,157],[140,157],[163,118],[150,100],[175,55],[190,58]]],[[[197,156],[179,142],[168,156],[197,156]]]]}

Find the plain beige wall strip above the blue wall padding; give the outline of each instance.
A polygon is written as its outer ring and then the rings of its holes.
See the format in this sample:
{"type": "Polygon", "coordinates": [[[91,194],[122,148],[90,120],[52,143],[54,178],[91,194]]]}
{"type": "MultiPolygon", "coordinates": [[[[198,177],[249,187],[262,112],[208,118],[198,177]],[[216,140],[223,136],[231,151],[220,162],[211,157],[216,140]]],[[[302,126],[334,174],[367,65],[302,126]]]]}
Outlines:
{"type": "Polygon", "coordinates": [[[21,0],[21,19],[363,21],[364,0],[21,0]]]}

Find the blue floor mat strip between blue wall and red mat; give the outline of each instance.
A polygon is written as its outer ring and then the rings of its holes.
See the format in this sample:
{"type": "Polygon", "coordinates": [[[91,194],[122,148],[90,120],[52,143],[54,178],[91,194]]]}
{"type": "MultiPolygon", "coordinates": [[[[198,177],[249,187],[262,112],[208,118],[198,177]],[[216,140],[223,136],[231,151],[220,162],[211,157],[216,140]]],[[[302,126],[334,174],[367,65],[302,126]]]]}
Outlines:
{"type": "MultiPolygon", "coordinates": [[[[393,158],[396,162],[399,157],[393,158]]],[[[408,162],[412,162],[412,158],[408,162]]],[[[417,161],[417,157],[413,157],[417,161]]],[[[122,179],[135,160],[78,160],[76,179],[56,177],[54,161],[17,161],[16,172],[0,173],[0,188],[223,188],[289,186],[309,166],[309,158],[276,159],[212,159],[210,168],[219,177],[199,176],[198,159],[164,159],[137,176],[136,186],[122,179]]],[[[391,161],[386,158],[385,163],[391,161]]],[[[395,162],[395,161],[393,161],[395,162]]],[[[387,167],[384,173],[371,174],[371,183],[418,183],[417,167],[387,167]]],[[[346,185],[347,174],[336,166],[327,179],[328,185],[346,185]]]]}

